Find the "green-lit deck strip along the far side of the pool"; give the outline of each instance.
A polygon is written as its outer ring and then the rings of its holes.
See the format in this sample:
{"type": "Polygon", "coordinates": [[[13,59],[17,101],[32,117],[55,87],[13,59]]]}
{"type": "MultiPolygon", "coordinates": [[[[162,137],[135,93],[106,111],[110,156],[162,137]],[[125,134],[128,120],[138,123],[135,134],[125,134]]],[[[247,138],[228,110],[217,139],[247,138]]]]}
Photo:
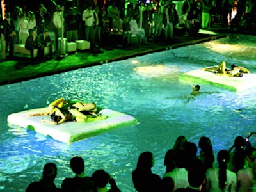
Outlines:
{"type": "MultiPolygon", "coordinates": [[[[214,30],[212,30],[213,32],[214,30]]],[[[209,31],[211,32],[211,31],[209,31]]],[[[40,62],[31,62],[29,56],[24,54],[15,54],[13,60],[1,61],[0,85],[12,84],[20,81],[34,79],[36,77],[44,77],[53,74],[59,74],[68,70],[77,68],[90,67],[100,65],[111,61],[125,60],[134,56],[140,56],[152,52],[164,51],[191,44],[198,44],[216,38],[227,36],[225,31],[215,31],[216,33],[199,33],[196,37],[174,36],[173,42],[159,42],[133,44],[129,47],[111,47],[111,49],[102,49],[101,53],[90,51],[77,51],[69,53],[65,57],[55,56],[51,60],[40,62]]]]}

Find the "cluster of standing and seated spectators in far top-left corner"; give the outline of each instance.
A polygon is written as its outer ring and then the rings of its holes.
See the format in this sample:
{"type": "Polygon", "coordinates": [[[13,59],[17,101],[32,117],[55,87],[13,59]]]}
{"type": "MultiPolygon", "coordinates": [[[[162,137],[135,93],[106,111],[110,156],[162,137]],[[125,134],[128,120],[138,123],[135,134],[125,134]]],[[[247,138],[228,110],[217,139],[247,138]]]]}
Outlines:
{"type": "Polygon", "coordinates": [[[13,14],[6,12],[5,18],[1,17],[1,59],[13,58],[14,44],[25,44],[33,58],[34,49],[38,49],[37,56],[44,57],[44,47],[49,47],[52,57],[52,41],[49,31],[45,29],[45,17],[49,12],[40,4],[35,13],[28,12],[28,17],[19,6],[14,8],[13,14]]]}

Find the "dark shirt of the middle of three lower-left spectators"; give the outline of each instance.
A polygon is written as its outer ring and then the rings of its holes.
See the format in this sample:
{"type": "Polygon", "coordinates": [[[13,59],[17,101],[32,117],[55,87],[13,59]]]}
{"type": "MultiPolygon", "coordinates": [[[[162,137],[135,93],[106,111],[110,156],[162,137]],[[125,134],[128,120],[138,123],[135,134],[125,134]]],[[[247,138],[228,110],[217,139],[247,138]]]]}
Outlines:
{"type": "Polygon", "coordinates": [[[91,177],[73,177],[65,178],[61,184],[61,189],[64,192],[93,192],[96,188],[91,177]]]}

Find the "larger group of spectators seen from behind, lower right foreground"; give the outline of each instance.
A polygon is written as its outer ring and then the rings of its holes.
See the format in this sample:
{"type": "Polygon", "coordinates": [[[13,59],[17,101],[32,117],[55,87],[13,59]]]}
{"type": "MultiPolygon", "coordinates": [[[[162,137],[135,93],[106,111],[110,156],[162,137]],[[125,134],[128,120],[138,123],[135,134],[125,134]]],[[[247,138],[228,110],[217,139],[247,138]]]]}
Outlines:
{"type": "Polygon", "coordinates": [[[154,156],[143,152],[138,158],[132,180],[136,191],[255,191],[256,148],[248,138],[237,136],[228,150],[215,157],[211,140],[202,136],[198,147],[179,136],[166,152],[162,177],[152,173],[154,156]],[[197,155],[197,150],[200,153],[197,155]],[[215,164],[215,161],[217,163],[215,164]]]}

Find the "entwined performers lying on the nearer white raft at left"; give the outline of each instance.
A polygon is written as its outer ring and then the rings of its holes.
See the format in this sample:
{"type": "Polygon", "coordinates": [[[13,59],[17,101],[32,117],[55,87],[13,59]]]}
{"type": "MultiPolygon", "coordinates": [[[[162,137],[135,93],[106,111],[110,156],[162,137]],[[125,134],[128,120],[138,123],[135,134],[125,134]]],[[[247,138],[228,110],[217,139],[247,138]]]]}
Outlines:
{"type": "Polygon", "coordinates": [[[77,100],[64,100],[62,97],[49,104],[48,109],[45,113],[36,113],[29,116],[50,115],[52,120],[43,118],[42,122],[51,125],[58,125],[65,121],[86,122],[106,118],[106,116],[97,113],[96,105],[92,102],[85,104],[77,100]]]}

